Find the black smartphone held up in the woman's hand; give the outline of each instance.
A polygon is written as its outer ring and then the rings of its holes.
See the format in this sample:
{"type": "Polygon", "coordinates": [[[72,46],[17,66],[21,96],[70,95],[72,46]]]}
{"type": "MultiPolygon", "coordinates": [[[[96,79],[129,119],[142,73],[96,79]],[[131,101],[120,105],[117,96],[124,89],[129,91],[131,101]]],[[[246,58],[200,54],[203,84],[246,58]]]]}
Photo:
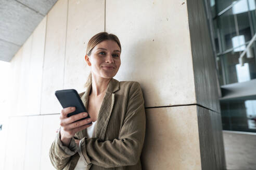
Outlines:
{"type": "MultiPolygon", "coordinates": [[[[68,117],[79,114],[81,112],[87,112],[87,110],[84,107],[84,104],[81,101],[79,94],[76,90],[74,90],[74,89],[57,90],[55,92],[55,95],[58,98],[58,100],[63,108],[75,107],[75,111],[68,114],[67,115],[68,117]]],[[[89,114],[86,118],[82,118],[80,120],[84,120],[87,118],[90,118],[89,114]]],[[[91,124],[91,123],[88,123],[88,124],[91,124]]]]}

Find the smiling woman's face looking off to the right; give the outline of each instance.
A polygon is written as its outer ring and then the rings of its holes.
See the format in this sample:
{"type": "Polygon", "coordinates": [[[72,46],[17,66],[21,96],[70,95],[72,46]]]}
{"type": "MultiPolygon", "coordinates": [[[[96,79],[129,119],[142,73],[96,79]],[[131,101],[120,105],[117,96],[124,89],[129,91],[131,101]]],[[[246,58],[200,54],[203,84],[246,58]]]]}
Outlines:
{"type": "Polygon", "coordinates": [[[116,76],[121,65],[120,54],[121,49],[116,41],[105,40],[97,44],[91,55],[85,56],[85,60],[92,66],[94,76],[112,78],[116,76]]]}

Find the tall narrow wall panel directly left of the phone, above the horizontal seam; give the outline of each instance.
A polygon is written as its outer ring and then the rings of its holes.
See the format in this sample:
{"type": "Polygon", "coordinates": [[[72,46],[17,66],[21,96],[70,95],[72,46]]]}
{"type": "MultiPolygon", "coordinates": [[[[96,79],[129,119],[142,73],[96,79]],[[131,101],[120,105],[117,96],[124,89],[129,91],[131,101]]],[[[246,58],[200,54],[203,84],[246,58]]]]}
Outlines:
{"type": "Polygon", "coordinates": [[[55,96],[63,88],[68,1],[60,0],[49,11],[46,24],[46,44],[42,82],[41,113],[60,112],[55,96]]]}

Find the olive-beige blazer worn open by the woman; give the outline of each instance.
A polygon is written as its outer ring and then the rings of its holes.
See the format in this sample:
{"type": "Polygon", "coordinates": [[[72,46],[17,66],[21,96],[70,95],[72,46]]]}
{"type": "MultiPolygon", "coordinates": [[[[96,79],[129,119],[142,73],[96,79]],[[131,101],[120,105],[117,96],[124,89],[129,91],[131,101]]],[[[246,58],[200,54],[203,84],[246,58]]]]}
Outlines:
{"type": "MultiPolygon", "coordinates": [[[[86,108],[91,88],[92,84],[80,94],[86,108]]],[[[142,169],[140,154],[145,128],[144,98],[139,83],[112,78],[100,106],[93,137],[87,137],[87,130],[75,134],[81,140],[82,155],[88,163],[86,169],[142,169]]],[[[80,158],[74,138],[66,147],[59,133],[49,156],[57,169],[74,169],[80,158]]]]}

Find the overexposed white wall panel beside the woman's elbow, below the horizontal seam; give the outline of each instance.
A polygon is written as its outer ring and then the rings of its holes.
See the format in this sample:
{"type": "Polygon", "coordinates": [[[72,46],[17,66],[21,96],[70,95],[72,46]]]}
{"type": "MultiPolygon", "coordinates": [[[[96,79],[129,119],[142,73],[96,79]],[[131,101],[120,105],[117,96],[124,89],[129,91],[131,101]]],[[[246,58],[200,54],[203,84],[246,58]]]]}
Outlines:
{"type": "Polygon", "coordinates": [[[41,169],[55,169],[50,162],[49,150],[59,129],[59,115],[43,116],[42,146],[41,146],[41,169]]]}

